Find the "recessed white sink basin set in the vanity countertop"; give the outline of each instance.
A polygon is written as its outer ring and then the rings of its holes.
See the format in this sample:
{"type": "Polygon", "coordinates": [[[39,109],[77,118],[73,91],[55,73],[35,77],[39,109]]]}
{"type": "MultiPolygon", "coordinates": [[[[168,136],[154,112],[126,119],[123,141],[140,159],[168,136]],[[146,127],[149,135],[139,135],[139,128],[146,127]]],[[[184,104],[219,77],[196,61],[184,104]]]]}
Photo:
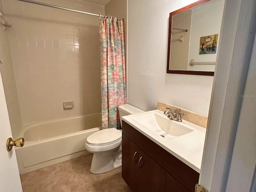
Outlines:
{"type": "Polygon", "coordinates": [[[132,119],[167,140],[171,140],[194,131],[188,128],[185,121],[176,122],[174,120],[170,120],[164,115],[154,112],[134,116],[132,119]]]}

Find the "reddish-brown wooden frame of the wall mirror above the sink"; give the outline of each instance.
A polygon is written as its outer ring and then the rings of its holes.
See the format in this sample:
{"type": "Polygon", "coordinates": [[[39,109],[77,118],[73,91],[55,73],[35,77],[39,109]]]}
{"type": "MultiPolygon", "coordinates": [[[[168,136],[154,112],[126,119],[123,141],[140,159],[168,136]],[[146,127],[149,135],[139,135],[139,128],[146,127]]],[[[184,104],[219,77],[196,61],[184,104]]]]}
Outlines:
{"type": "Polygon", "coordinates": [[[199,0],[197,2],[194,2],[188,6],[185,6],[183,8],[180,8],[174,12],[170,12],[170,18],[169,18],[169,37],[168,37],[168,58],[167,58],[167,73],[174,73],[174,74],[190,74],[190,75],[207,75],[207,76],[214,76],[214,72],[211,71],[184,71],[184,70],[170,70],[170,44],[171,44],[171,31],[172,31],[172,16],[180,13],[182,11],[188,10],[194,6],[200,5],[202,3],[208,2],[210,0],[199,0]]]}

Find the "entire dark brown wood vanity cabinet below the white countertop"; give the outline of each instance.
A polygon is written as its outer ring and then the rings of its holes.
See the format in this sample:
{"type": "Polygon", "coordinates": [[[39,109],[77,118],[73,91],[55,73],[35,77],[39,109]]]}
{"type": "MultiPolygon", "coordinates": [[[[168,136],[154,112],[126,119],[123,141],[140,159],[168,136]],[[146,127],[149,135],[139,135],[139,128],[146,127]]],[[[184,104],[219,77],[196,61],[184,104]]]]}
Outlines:
{"type": "Polygon", "coordinates": [[[199,173],[123,121],[122,177],[132,192],[194,192],[199,173]]]}

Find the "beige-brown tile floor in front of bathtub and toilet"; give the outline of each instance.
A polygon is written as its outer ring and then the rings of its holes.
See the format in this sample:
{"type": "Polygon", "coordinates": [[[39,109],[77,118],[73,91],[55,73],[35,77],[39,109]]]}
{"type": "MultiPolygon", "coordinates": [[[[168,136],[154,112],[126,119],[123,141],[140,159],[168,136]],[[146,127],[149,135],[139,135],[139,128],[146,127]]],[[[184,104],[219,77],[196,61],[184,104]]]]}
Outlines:
{"type": "Polygon", "coordinates": [[[131,192],[121,167],[92,174],[91,162],[92,154],[88,154],[23,174],[23,192],[131,192]]]}

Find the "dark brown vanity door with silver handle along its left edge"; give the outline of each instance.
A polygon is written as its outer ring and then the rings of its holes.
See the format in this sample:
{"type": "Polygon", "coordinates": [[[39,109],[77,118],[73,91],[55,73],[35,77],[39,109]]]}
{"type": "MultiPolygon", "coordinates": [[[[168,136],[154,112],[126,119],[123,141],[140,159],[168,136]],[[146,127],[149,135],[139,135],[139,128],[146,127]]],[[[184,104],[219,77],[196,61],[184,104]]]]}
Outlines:
{"type": "Polygon", "coordinates": [[[140,149],[139,192],[164,192],[166,171],[140,149]]]}

